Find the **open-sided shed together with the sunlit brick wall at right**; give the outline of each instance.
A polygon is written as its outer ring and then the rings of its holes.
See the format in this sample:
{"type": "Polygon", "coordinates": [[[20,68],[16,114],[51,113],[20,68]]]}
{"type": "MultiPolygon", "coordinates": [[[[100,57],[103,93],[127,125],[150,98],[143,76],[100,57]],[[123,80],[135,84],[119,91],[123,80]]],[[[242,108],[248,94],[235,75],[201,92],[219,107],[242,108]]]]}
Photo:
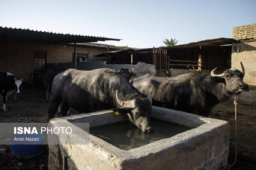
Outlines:
{"type": "Polygon", "coordinates": [[[95,55],[108,64],[146,62],[156,66],[157,76],[177,76],[201,71],[246,69],[244,81],[256,85],[256,24],[234,27],[232,38],[216,38],[177,46],[126,49],[95,55]]]}

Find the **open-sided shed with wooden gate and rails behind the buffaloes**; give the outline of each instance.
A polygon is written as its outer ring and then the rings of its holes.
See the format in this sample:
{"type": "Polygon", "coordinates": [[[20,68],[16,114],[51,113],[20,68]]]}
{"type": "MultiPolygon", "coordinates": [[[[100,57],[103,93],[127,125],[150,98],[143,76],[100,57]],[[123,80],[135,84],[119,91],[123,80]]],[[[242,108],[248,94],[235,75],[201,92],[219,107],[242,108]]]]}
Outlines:
{"type": "Polygon", "coordinates": [[[127,49],[101,53],[95,57],[109,57],[109,64],[155,64],[159,76],[177,76],[189,69],[209,72],[215,67],[231,67],[231,48],[236,39],[217,38],[185,45],[159,48],[127,49]]]}

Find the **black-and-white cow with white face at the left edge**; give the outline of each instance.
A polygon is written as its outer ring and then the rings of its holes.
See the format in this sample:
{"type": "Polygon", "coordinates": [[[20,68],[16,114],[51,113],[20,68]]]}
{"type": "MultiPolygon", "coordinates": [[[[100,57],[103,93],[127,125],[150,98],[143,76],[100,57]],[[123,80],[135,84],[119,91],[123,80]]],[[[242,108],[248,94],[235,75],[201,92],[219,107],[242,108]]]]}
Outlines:
{"type": "Polygon", "coordinates": [[[7,94],[10,90],[14,90],[16,94],[20,94],[20,85],[23,78],[15,78],[12,73],[0,72],[0,93],[3,96],[3,111],[6,111],[7,94]]]}

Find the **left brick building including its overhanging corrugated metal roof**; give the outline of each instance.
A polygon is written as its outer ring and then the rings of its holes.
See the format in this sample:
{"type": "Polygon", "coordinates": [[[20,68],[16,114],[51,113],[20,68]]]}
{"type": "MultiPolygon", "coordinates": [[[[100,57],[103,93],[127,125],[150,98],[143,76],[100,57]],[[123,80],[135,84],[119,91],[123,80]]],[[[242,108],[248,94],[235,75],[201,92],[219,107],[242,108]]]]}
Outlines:
{"type": "Polygon", "coordinates": [[[98,60],[92,57],[97,53],[124,49],[91,43],[108,40],[120,39],[0,27],[0,71],[28,81],[34,71],[43,71],[47,64],[68,62],[76,67],[77,62],[98,60]]]}

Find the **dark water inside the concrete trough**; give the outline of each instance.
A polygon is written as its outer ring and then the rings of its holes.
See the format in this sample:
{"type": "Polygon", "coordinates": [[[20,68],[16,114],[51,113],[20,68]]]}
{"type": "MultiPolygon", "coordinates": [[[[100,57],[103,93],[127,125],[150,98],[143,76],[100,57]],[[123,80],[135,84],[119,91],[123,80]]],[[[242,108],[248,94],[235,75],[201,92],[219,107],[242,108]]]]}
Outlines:
{"type": "Polygon", "coordinates": [[[170,138],[190,129],[159,120],[152,120],[152,125],[155,131],[144,133],[131,122],[118,122],[116,124],[90,128],[90,134],[122,150],[131,150],[132,148],[138,148],[154,141],[170,138]]]}

